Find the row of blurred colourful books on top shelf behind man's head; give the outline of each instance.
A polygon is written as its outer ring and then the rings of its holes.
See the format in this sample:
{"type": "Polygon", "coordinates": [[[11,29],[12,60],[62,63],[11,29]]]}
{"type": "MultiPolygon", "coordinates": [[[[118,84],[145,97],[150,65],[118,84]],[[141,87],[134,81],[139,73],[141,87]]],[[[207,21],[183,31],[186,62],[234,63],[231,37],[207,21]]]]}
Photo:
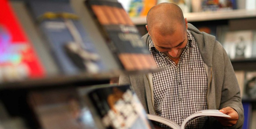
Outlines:
{"type": "Polygon", "coordinates": [[[256,0],[119,0],[131,17],[147,16],[151,7],[159,3],[174,3],[183,13],[220,11],[234,9],[256,9],[256,0]]]}

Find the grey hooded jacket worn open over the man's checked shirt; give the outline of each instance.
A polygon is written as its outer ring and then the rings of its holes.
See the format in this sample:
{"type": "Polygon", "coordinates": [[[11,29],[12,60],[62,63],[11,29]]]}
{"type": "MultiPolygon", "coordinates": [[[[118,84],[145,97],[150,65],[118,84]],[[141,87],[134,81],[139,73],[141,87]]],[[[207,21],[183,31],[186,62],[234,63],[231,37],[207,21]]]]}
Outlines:
{"type": "MultiPolygon", "coordinates": [[[[236,125],[230,128],[242,128],[244,123],[244,109],[240,97],[233,66],[222,45],[215,37],[200,32],[192,24],[188,23],[188,30],[195,37],[197,46],[204,60],[205,70],[208,77],[208,89],[206,99],[208,109],[220,110],[232,107],[239,115],[236,125]]],[[[146,34],[142,40],[149,44],[149,35],[146,34]]],[[[121,75],[119,84],[130,84],[140,99],[145,110],[149,114],[156,114],[154,110],[153,80],[152,74],[121,75]]],[[[210,117],[212,129],[223,128],[220,123],[210,117]]]]}

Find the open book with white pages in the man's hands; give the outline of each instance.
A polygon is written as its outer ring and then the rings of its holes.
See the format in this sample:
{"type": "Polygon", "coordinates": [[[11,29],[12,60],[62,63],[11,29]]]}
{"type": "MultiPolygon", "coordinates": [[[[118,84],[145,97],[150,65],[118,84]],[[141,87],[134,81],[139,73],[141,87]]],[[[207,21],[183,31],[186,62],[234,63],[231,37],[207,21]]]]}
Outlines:
{"type": "Polygon", "coordinates": [[[219,110],[201,110],[201,111],[197,111],[194,114],[188,116],[180,125],[178,125],[177,123],[175,123],[174,121],[168,119],[168,118],[164,118],[161,116],[157,116],[157,115],[151,115],[151,114],[147,114],[148,115],[148,119],[149,120],[153,120],[159,123],[162,123],[164,125],[167,125],[173,129],[185,129],[186,125],[192,121],[195,118],[198,117],[203,117],[203,116],[213,116],[213,117],[229,117],[227,114],[224,114],[222,112],[220,112],[219,110]]]}

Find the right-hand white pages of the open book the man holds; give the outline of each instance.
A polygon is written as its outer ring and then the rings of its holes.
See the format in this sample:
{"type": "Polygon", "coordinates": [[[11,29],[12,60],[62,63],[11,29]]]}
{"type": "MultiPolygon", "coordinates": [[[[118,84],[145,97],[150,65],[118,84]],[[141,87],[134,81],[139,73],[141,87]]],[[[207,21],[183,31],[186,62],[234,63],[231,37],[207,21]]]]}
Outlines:
{"type": "Polygon", "coordinates": [[[197,111],[194,114],[188,116],[181,124],[181,129],[185,129],[186,123],[191,119],[195,117],[200,117],[200,116],[215,116],[215,117],[229,117],[227,114],[224,114],[220,112],[219,110],[201,110],[197,111]]]}

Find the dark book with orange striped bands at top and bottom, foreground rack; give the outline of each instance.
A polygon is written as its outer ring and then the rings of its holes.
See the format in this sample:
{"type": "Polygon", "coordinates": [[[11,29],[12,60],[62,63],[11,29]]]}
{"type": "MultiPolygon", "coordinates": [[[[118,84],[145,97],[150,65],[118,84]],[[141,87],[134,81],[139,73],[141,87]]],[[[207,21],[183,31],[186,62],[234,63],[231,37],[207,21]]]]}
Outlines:
{"type": "Polygon", "coordinates": [[[127,71],[156,69],[138,29],[118,2],[86,0],[95,23],[113,54],[127,71]]]}

